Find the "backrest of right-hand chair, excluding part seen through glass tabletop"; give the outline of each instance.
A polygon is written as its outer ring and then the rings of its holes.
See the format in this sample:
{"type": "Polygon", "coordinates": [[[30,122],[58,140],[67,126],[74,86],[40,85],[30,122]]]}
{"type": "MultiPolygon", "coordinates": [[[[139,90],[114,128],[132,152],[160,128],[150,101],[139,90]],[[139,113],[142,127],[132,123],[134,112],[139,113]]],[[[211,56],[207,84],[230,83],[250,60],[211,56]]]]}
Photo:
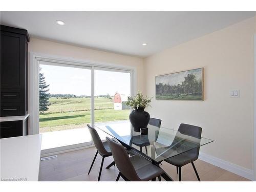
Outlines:
{"type": "MultiPolygon", "coordinates": [[[[202,128],[199,126],[181,123],[178,131],[181,134],[189,135],[189,136],[201,139],[202,128]]],[[[200,140],[198,144],[200,145],[200,140]]],[[[197,148],[194,148],[194,150],[188,151],[187,154],[189,154],[190,157],[198,158],[199,150],[200,150],[200,147],[197,147],[197,148]]]]}

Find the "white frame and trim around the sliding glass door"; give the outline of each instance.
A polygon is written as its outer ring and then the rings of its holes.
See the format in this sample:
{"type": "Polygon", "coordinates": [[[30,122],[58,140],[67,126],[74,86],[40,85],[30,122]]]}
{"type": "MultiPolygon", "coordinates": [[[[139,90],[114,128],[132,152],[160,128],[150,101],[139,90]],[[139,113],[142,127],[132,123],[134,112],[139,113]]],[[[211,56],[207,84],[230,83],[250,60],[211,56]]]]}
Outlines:
{"type": "MultiPolygon", "coordinates": [[[[126,71],[131,73],[131,95],[135,95],[137,90],[137,69],[131,66],[122,66],[114,63],[95,62],[90,60],[75,59],[49,54],[29,52],[29,135],[39,134],[39,61],[53,62],[54,65],[69,67],[86,67],[91,69],[91,105],[94,105],[94,69],[106,69],[110,71],[126,71]]],[[[93,109],[93,108],[92,108],[93,109]]],[[[91,111],[91,122],[94,122],[94,110],[91,111]]],[[[57,153],[62,150],[71,150],[86,147],[92,143],[84,143],[57,147],[49,150],[43,150],[42,154],[57,153]]]]}

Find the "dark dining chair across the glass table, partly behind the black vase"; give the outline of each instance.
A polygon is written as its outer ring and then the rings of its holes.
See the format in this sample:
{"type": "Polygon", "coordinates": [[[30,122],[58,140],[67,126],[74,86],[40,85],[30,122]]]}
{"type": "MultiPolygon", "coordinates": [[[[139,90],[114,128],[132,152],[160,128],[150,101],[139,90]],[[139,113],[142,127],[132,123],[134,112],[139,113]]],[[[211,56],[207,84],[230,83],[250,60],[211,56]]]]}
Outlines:
{"type": "MultiPolygon", "coordinates": [[[[161,119],[150,118],[150,121],[148,122],[148,124],[160,127],[161,126],[161,122],[162,122],[161,119]]],[[[146,154],[147,154],[146,146],[150,145],[150,141],[148,140],[148,136],[147,135],[136,135],[136,136],[133,136],[133,142],[132,143],[140,147],[140,152],[142,152],[142,147],[144,146],[145,150],[146,150],[146,154]]]]}

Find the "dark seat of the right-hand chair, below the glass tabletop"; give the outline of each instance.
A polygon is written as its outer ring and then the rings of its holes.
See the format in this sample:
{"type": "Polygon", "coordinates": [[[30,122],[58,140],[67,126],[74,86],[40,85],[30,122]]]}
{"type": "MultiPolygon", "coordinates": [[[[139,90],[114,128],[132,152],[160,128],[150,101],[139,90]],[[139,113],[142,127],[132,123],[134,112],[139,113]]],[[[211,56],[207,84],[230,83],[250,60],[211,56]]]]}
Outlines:
{"type": "Polygon", "coordinates": [[[189,152],[182,153],[180,155],[176,155],[174,157],[168,158],[165,161],[175,166],[184,166],[196,160],[197,160],[197,155],[195,154],[194,150],[191,150],[189,152]]]}

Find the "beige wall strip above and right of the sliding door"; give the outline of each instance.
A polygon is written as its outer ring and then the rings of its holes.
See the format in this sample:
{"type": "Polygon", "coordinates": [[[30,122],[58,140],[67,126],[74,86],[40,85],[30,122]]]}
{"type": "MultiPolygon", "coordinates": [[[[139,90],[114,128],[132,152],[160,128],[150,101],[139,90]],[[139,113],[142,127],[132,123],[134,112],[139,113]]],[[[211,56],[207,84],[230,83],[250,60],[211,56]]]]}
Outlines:
{"type": "Polygon", "coordinates": [[[97,51],[48,40],[31,38],[29,51],[53,56],[71,57],[94,62],[104,62],[122,66],[132,66],[137,69],[137,89],[143,92],[143,59],[104,51],[97,51]]]}

